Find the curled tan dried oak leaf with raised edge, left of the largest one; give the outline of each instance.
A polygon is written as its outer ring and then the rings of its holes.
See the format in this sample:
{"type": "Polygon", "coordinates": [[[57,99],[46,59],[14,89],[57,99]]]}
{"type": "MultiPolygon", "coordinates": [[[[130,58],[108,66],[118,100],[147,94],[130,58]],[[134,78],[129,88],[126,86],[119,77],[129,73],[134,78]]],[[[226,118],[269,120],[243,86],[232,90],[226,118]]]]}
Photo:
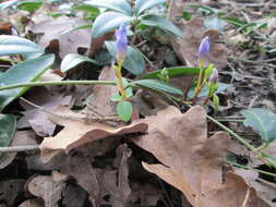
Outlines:
{"type": "MultiPolygon", "coordinates": [[[[68,112],[63,111],[62,113],[71,114],[72,117],[79,115],[79,113],[73,113],[70,110],[68,112]]],[[[40,144],[41,159],[45,162],[49,161],[56,155],[51,150],[65,150],[68,153],[72,148],[108,136],[144,133],[147,131],[147,124],[141,122],[134,122],[130,125],[116,129],[99,122],[88,124],[82,120],[74,121],[71,119],[56,118],[53,121],[56,124],[64,126],[64,129],[56,136],[45,137],[40,144]]]]}

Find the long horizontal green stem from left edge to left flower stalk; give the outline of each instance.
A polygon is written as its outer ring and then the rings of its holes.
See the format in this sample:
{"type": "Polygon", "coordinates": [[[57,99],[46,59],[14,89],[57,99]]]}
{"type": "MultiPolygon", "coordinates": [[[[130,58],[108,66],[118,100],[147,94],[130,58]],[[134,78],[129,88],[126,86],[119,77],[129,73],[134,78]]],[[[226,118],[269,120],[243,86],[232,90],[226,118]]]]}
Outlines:
{"type": "Polygon", "coordinates": [[[17,87],[33,87],[47,85],[116,85],[115,81],[60,81],[60,82],[29,82],[13,85],[0,86],[0,90],[12,89],[17,87]]]}

